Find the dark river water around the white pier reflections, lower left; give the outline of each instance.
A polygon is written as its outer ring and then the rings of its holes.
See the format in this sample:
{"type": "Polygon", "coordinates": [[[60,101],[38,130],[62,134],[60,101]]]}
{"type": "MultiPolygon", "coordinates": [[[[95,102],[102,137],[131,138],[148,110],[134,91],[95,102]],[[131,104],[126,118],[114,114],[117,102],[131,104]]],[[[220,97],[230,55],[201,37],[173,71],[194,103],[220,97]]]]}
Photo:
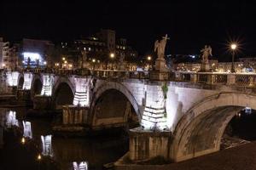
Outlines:
{"type": "MultiPolygon", "coordinates": [[[[1,167],[9,164],[9,169],[15,169],[12,168],[12,162],[17,161],[15,159],[24,159],[24,161],[26,161],[19,162],[21,164],[36,164],[35,160],[37,160],[38,154],[41,154],[43,146],[41,135],[53,134],[51,130],[53,122],[52,118],[29,118],[26,117],[26,112],[27,109],[22,107],[0,109],[0,140],[2,141],[0,141],[0,144],[3,144],[2,149],[0,150],[3,158],[1,159],[2,162],[0,161],[0,165],[3,165],[1,167]],[[9,114],[9,111],[16,111],[19,127],[6,127],[6,117],[9,114]],[[31,122],[32,139],[26,139],[25,144],[20,144],[23,133],[21,122],[23,120],[31,122]],[[26,150],[23,150],[24,147],[26,150]],[[21,155],[21,158],[15,158],[12,155],[14,153],[17,156],[21,155]],[[24,156],[22,156],[22,154],[24,156]],[[25,155],[32,157],[32,159],[26,159],[25,155]]],[[[82,161],[86,161],[88,169],[104,169],[103,165],[117,161],[121,156],[125,155],[128,150],[128,137],[125,133],[119,133],[113,135],[113,137],[108,137],[108,135],[106,135],[72,138],[64,138],[53,134],[51,144],[53,156],[42,156],[42,162],[43,159],[48,160],[44,162],[47,164],[47,169],[74,169],[73,162],[79,163],[82,161]]],[[[43,165],[41,165],[41,169],[46,169],[46,167],[43,168],[42,166],[43,165]]],[[[0,169],[2,169],[1,167],[0,169]]],[[[28,168],[33,169],[35,167],[28,168]]],[[[37,169],[38,168],[40,167],[37,167],[37,169]]]]}

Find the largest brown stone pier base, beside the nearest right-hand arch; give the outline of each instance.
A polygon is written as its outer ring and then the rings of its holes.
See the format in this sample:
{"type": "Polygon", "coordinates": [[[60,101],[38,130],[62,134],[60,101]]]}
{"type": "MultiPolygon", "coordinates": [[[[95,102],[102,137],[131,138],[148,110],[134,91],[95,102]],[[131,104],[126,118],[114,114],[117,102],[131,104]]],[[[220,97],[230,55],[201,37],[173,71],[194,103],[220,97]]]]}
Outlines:
{"type": "Polygon", "coordinates": [[[172,133],[169,131],[144,131],[139,127],[130,130],[129,156],[131,161],[148,161],[160,156],[170,160],[172,133]]]}

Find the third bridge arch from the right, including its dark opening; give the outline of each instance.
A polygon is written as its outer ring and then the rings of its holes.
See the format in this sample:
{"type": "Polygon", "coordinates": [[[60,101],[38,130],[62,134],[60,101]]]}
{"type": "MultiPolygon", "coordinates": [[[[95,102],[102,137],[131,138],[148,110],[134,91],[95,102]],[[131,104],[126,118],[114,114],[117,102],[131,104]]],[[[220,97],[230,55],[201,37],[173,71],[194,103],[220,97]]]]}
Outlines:
{"type": "Polygon", "coordinates": [[[67,77],[59,77],[53,87],[53,102],[55,109],[61,109],[62,105],[73,105],[75,87],[67,77]]]}

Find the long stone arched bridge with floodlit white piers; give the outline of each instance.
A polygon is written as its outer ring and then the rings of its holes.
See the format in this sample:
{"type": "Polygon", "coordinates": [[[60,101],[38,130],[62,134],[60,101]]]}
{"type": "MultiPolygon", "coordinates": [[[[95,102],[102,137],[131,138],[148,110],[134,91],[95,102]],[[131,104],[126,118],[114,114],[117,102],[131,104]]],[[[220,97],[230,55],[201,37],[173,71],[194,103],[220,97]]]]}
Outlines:
{"type": "Polygon", "coordinates": [[[134,112],[141,126],[130,131],[132,161],[183,161],[218,151],[231,118],[245,107],[256,109],[255,74],[175,72],[166,73],[165,81],[125,71],[6,74],[9,86],[30,92],[38,103],[64,105],[64,124],[108,127],[134,112]]]}

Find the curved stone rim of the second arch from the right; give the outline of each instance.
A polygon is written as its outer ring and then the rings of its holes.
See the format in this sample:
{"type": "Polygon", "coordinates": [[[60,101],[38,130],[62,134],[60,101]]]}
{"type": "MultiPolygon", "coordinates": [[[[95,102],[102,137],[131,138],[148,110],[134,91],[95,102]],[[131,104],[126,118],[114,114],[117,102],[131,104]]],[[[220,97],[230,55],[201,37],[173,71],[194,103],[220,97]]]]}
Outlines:
{"type": "Polygon", "coordinates": [[[125,87],[124,84],[121,82],[104,82],[102,83],[101,86],[95,89],[95,94],[93,94],[91,103],[90,103],[90,124],[94,126],[95,120],[96,120],[96,115],[95,113],[95,106],[96,106],[96,101],[100,97],[102,97],[102,94],[107,92],[108,90],[117,90],[119,93],[124,94],[125,98],[128,99],[128,101],[131,103],[134,111],[137,114],[137,118],[139,122],[141,121],[141,113],[139,110],[139,105],[137,104],[137,100],[135,97],[132,95],[131,91],[125,87]]]}

